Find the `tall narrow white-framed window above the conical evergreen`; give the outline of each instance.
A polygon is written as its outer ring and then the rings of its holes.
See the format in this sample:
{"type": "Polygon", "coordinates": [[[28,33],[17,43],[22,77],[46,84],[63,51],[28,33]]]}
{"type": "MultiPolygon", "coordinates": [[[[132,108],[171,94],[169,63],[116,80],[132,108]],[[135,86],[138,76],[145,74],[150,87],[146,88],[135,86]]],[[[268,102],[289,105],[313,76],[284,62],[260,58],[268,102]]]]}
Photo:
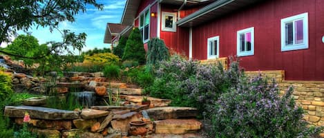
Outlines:
{"type": "Polygon", "coordinates": [[[144,10],[142,14],[140,14],[140,32],[142,34],[143,42],[149,41],[150,37],[150,10],[144,10]]]}

